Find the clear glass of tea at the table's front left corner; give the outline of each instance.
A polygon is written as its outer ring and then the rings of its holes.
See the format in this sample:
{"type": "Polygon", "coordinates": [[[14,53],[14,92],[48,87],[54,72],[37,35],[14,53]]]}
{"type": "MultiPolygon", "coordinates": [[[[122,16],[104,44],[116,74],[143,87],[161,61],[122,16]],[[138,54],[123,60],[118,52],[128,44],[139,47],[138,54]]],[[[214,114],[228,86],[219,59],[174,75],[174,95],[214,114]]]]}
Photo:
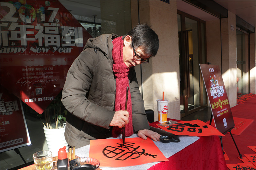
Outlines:
{"type": "Polygon", "coordinates": [[[33,154],[36,170],[45,170],[45,164],[52,162],[51,151],[39,151],[33,154]]]}

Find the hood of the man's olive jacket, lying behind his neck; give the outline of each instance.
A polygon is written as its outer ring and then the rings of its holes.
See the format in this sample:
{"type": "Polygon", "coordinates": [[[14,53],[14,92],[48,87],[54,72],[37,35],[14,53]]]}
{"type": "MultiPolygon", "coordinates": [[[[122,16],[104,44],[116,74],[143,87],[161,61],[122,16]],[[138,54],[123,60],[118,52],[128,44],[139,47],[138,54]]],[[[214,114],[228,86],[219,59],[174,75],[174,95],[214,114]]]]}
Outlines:
{"type": "Polygon", "coordinates": [[[86,48],[94,48],[96,51],[100,50],[103,54],[108,55],[108,49],[113,49],[112,40],[119,37],[118,35],[112,33],[112,34],[102,34],[99,37],[96,38],[90,38],[86,45],[84,46],[84,49],[86,48]]]}

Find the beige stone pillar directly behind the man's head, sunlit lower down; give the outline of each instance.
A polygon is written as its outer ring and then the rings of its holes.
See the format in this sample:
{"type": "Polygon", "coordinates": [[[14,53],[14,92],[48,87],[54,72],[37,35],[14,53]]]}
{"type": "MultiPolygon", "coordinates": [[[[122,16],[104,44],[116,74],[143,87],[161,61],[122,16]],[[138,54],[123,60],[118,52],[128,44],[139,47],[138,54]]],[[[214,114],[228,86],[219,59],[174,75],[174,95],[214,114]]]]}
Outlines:
{"type": "MultiPolygon", "coordinates": [[[[136,7],[133,3],[132,7],[136,7]]],[[[138,6],[137,6],[138,8],[138,6]]],[[[148,64],[142,64],[142,88],[145,109],[152,109],[157,115],[157,99],[162,99],[163,91],[168,103],[168,118],[180,120],[180,73],[176,1],[139,1],[140,23],[147,23],[157,33],[160,47],[148,64]]],[[[132,9],[136,11],[136,9],[132,9]]],[[[136,18],[132,24],[136,23],[136,18]]],[[[140,66],[136,66],[137,75],[140,66]]],[[[138,76],[137,76],[138,78],[138,76]]],[[[139,78],[138,78],[139,79],[139,78]]]]}

